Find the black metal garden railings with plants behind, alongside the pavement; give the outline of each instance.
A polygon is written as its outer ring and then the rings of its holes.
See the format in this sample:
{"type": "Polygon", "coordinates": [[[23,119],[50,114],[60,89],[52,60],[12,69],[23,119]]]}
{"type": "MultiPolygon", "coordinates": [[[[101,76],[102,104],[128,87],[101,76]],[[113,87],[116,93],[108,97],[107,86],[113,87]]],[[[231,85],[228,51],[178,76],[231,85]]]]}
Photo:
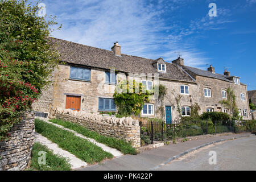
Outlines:
{"type": "MultiPolygon", "coordinates": [[[[205,134],[242,132],[233,127],[232,121],[192,122],[182,124],[166,124],[165,122],[140,122],[141,146],[153,144],[154,141],[168,141],[175,138],[187,138],[205,134]]],[[[243,130],[246,131],[246,130],[243,130]]]]}

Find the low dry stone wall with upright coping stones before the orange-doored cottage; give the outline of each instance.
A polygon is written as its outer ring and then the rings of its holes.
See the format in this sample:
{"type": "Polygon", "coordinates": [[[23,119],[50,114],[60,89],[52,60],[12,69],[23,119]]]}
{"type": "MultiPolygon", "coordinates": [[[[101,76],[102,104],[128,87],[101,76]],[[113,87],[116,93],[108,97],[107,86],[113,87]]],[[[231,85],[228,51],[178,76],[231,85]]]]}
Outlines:
{"type": "Polygon", "coordinates": [[[71,109],[55,109],[55,117],[78,123],[98,134],[131,142],[133,147],[141,147],[141,128],[139,121],[131,117],[115,118],[104,117],[98,114],[86,113],[85,111],[73,111],[71,109]]]}

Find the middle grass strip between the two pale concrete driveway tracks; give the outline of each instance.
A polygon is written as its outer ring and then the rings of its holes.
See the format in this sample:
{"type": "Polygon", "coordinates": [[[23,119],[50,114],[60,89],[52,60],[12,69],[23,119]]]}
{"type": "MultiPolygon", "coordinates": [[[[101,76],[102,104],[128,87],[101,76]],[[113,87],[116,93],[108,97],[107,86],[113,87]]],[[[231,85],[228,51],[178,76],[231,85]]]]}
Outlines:
{"type": "Polygon", "coordinates": [[[102,150],[101,147],[89,142],[86,139],[76,137],[73,133],[60,129],[49,123],[35,119],[35,130],[44,137],[56,143],[60,148],[71,152],[77,158],[86,163],[101,162],[104,159],[111,159],[113,155],[102,150]]]}

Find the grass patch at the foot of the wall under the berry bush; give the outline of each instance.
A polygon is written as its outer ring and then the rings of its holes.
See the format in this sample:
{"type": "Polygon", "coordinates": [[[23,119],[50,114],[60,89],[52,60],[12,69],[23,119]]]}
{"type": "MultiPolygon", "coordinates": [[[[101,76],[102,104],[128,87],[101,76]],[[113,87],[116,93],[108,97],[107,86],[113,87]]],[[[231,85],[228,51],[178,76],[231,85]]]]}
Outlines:
{"type": "Polygon", "coordinates": [[[32,157],[30,168],[28,171],[70,171],[71,164],[69,164],[69,159],[64,158],[63,156],[59,156],[53,154],[52,150],[49,150],[46,146],[35,142],[32,148],[32,157]],[[39,164],[38,158],[42,155],[39,155],[40,151],[46,152],[46,164],[39,164]]]}

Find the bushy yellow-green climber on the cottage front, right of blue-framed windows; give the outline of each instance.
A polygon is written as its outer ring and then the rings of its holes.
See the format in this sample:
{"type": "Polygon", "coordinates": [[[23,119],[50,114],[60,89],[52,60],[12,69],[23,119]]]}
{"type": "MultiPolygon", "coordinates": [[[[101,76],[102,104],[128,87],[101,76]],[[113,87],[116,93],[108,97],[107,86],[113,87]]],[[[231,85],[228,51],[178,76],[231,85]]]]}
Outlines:
{"type": "Polygon", "coordinates": [[[144,103],[148,102],[150,94],[151,92],[148,92],[142,83],[135,80],[131,83],[119,82],[113,95],[118,107],[118,114],[124,116],[140,114],[144,103]]]}

